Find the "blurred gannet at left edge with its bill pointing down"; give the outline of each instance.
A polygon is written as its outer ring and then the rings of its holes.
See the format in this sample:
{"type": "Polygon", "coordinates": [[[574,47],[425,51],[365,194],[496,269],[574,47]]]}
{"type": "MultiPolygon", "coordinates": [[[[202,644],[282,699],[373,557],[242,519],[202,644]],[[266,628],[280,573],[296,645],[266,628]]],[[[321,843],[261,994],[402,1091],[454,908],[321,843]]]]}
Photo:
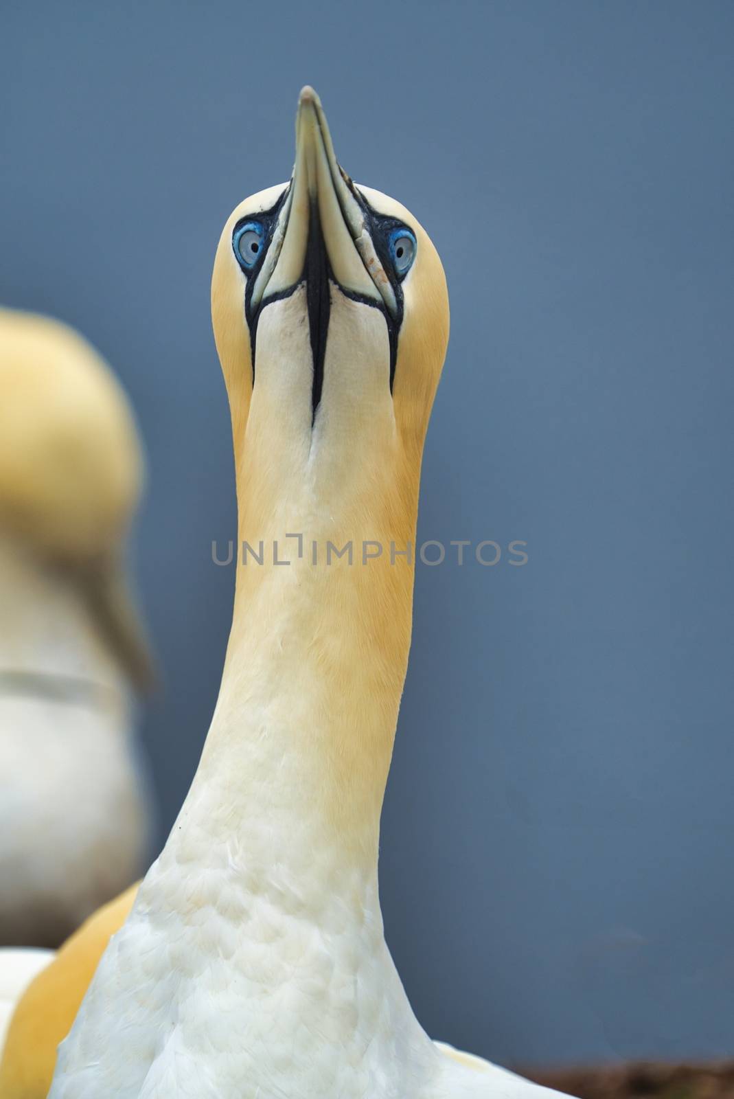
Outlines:
{"type": "Polygon", "coordinates": [[[123,565],[142,475],[90,345],[0,310],[0,946],[57,945],[145,857],[131,726],[149,663],[123,565]]]}

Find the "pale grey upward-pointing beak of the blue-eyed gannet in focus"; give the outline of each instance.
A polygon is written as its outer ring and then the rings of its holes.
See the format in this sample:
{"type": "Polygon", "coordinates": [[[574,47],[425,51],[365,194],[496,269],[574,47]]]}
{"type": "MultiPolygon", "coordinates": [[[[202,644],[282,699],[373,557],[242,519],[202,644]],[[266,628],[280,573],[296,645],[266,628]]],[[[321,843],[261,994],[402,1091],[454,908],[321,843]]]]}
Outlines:
{"type": "Polygon", "coordinates": [[[337,164],[321,101],[307,86],[296,118],[291,187],[253,288],[255,308],[303,277],[313,219],[318,219],[335,281],[349,293],[383,303],[394,315],[394,292],[375,251],[365,211],[337,164]]]}

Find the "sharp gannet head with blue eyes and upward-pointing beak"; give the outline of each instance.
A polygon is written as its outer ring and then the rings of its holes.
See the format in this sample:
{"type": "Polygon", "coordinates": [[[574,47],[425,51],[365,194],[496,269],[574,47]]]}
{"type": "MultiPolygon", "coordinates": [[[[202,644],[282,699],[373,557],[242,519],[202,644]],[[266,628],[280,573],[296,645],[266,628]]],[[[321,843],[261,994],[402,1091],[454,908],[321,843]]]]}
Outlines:
{"type": "Polygon", "coordinates": [[[308,466],[333,502],[353,475],[420,467],[448,338],[443,267],[404,207],[340,167],[312,88],[290,181],[224,226],[212,319],[238,477],[246,453],[248,480],[267,470],[277,495],[308,466]]]}

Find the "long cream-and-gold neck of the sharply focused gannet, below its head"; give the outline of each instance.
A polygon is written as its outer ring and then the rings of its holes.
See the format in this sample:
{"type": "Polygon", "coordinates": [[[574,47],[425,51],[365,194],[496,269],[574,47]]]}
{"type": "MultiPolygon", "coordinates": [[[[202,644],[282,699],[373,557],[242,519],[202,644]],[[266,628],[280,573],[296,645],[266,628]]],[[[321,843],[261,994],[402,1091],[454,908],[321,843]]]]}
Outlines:
{"type": "Polygon", "coordinates": [[[340,873],[376,880],[411,632],[413,564],[399,551],[413,541],[416,486],[376,496],[340,514],[307,487],[267,519],[253,493],[241,500],[232,632],[188,801],[243,867],[262,840],[298,878],[313,881],[313,853],[327,851],[340,873]],[[243,563],[244,541],[263,564],[249,551],[243,563]],[[352,559],[329,543],[351,543],[352,559]]]}

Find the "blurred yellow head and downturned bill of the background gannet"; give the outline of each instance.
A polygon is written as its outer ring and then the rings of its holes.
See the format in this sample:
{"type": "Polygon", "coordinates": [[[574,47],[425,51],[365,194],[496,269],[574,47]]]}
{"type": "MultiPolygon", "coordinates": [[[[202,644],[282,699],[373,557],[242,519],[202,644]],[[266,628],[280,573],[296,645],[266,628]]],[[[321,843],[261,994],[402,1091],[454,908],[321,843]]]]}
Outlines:
{"type": "Polygon", "coordinates": [[[144,463],[108,365],[46,317],[0,310],[0,536],[60,568],[123,669],[148,686],[145,630],[123,567],[144,463]]]}

